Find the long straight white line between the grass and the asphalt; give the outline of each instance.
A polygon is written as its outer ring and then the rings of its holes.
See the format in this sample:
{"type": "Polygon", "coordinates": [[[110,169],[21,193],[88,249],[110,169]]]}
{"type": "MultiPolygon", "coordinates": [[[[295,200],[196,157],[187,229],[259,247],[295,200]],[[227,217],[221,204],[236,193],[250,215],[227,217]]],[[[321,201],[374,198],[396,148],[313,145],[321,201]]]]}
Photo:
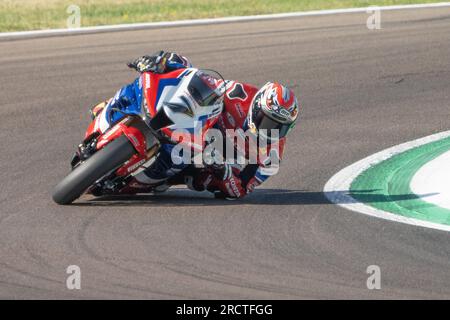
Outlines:
{"type": "MultiPolygon", "coordinates": [[[[397,6],[380,6],[377,8],[380,9],[381,11],[391,11],[391,10],[427,9],[427,8],[442,8],[442,7],[450,7],[450,2],[397,5],[397,6]]],[[[255,21],[255,20],[272,20],[272,19],[296,18],[296,17],[306,17],[306,16],[323,16],[323,15],[344,14],[344,13],[361,13],[361,12],[367,12],[367,10],[369,10],[370,8],[372,8],[372,7],[334,9],[334,10],[315,10],[315,11],[276,13],[276,14],[264,14],[264,15],[254,15],[254,16],[224,17],[224,18],[212,18],[212,19],[194,19],[194,20],[178,20],[178,21],[163,21],[163,22],[148,22],[148,23],[132,23],[132,24],[119,24],[119,25],[97,26],[97,27],[82,27],[82,28],[78,28],[78,29],[50,29],[50,30],[4,32],[4,33],[0,33],[0,40],[16,40],[16,39],[25,39],[25,38],[40,38],[40,37],[51,37],[51,36],[77,35],[77,34],[101,33],[101,32],[112,32],[112,31],[131,31],[131,30],[140,30],[140,29],[157,29],[157,28],[182,27],[182,26],[199,26],[199,25],[208,25],[208,24],[246,22],[246,21],[255,21]]]]}

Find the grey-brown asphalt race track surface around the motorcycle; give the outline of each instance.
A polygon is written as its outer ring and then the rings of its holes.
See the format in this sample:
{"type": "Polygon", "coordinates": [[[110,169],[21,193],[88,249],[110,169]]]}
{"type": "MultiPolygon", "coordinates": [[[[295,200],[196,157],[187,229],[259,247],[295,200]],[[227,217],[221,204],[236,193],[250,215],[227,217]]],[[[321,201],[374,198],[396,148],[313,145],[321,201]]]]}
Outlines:
{"type": "Polygon", "coordinates": [[[450,9],[304,17],[0,42],[0,298],[450,298],[450,235],[330,204],[341,168],[450,126],[450,9]],[[175,50],[301,97],[280,173],[239,202],[52,202],[88,108],[175,50]],[[66,268],[81,268],[81,290],[66,268]],[[368,290],[366,268],[381,268],[368,290]]]}

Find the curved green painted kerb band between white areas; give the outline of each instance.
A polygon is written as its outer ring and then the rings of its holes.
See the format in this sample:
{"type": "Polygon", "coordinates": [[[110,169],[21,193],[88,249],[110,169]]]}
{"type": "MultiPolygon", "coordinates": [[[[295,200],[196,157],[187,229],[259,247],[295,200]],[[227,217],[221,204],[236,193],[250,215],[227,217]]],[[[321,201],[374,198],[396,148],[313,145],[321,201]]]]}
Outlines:
{"type": "Polygon", "coordinates": [[[350,195],[380,210],[450,225],[450,210],[421,200],[427,195],[415,195],[410,189],[411,179],[417,170],[448,150],[450,150],[450,137],[413,148],[382,161],[353,180],[350,195]]]}

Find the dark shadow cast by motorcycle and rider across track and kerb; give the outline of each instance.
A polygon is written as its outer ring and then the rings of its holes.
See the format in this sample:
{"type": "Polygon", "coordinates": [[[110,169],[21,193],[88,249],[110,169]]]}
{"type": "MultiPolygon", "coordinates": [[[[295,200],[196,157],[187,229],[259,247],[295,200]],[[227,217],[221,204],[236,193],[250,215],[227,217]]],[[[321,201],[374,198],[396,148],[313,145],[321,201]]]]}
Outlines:
{"type": "MultiPolygon", "coordinates": [[[[341,199],[338,203],[355,202],[395,202],[401,200],[414,200],[429,195],[418,197],[415,194],[384,195],[374,193],[378,190],[358,190],[351,195],[358,199],[348,197],[348,191],[333,192],[333,198],[341,199]],[[337,197],[336,197],[337,196],[337,197]]],[[[74,206],[114,206],[114,207],[196,207],[196,206],[251,206],[251,205],[323,205],[332,204],[324,192],[286,190],[286,189],[257,189],[244,199],[230,201],[215,199],[209,192],[194,192],[189,189],[171,189],[161,194],[139,194],[104,196],[99,198],[81,200],[74,206]]]]}

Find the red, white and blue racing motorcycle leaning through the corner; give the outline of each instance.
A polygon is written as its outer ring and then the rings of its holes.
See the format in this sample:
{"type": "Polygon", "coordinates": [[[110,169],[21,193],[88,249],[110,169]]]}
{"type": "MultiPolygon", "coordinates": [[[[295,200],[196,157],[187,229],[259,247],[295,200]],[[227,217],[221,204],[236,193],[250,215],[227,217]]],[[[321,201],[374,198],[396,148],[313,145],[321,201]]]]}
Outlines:
{"type": "Polygon", "coordinates": [[[137,83],[139,110],[124,112],[108,103],[94,118],[72,158],[72,171],[54,189],[56,203],[70,204],[84,193],[123,187],[162,144],[201,148],[196,141],[204,141],[223,109],[225,81],[212,70],[146,72],[137,83]],[[189,135],[180,139],[177,134],[175,141],[173,133],[179,129],[189,135]]]}

